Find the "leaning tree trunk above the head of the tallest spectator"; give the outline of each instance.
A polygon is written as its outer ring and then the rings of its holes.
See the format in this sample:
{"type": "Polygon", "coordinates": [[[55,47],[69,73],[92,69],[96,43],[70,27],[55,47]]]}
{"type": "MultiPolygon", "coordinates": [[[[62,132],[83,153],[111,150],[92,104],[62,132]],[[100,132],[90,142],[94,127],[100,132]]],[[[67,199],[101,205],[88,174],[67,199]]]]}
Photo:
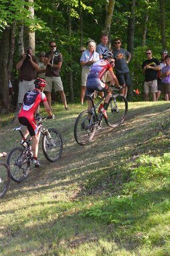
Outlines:
{"type": "Polygon", "coordinates": [[[109,35],[109,31],[111,29],[114,6],[115,6],[115,0],[109,0],[105,23],[104,23],[104,28],[102,31],[103,33],[105,33],[107,35],[109,35]]]}

